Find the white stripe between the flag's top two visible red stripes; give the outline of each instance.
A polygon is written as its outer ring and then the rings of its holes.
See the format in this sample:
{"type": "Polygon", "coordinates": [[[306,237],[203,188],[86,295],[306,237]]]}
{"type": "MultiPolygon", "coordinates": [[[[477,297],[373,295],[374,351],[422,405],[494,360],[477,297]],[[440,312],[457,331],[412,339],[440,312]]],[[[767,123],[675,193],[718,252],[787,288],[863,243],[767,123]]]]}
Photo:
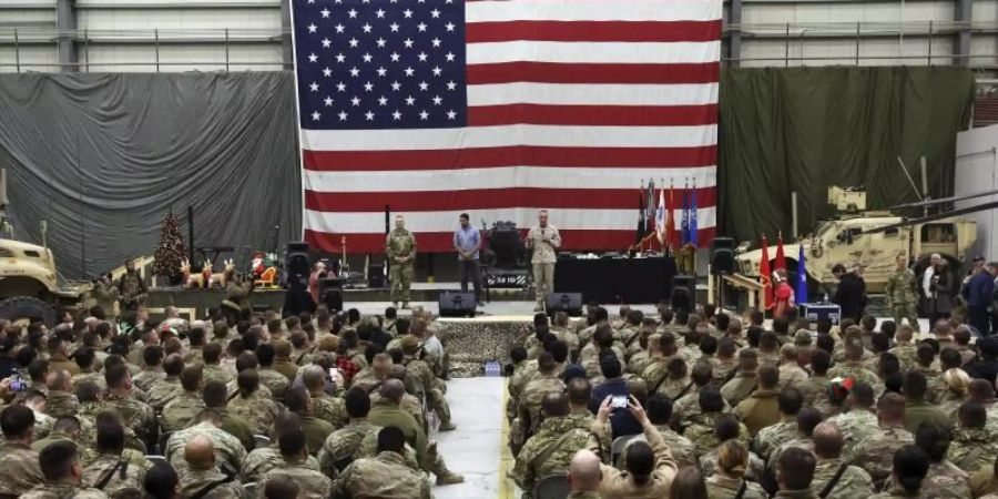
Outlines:
{"type": "Polygon", "coordinates": [[[683,64],[716,62],[721,41],[552,42],[517,40],[468,43],[468,64],[534,61],[560,63],[683,64]]]}

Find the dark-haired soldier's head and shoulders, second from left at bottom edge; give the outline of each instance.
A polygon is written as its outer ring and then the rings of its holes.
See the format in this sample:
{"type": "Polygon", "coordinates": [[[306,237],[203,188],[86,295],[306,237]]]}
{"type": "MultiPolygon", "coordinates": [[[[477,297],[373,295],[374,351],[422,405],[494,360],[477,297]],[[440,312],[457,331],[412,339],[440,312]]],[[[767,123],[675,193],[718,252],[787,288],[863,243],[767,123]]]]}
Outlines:
{"type": "Polygon", "coordinates": [[[80,456],[71,441],[50,445],[38,458],[45,480],[34,486],[24,499],[106,499],[104,492],[81,487],[80,456]]]}

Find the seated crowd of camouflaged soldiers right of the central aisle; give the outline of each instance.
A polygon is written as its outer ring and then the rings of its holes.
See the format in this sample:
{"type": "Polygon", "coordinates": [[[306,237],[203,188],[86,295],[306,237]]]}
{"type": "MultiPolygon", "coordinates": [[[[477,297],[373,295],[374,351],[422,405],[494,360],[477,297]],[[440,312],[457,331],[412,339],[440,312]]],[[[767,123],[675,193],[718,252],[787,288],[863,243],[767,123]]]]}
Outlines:
{"type": "Polygon", "coordinates": [[[567,473],[571,498],[996,499],[998,337],[931,326],[539,314],[507,368],[509,476],[527,498],[567,473]]]}

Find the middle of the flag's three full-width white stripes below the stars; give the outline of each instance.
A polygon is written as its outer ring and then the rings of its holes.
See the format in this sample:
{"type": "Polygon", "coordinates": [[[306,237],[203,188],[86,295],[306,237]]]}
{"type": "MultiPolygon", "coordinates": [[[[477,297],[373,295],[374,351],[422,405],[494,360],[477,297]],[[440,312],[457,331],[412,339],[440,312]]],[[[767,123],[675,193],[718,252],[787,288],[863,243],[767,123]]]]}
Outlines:
{"type": "MultiPolygon", "coordinates": [[[[349,165],[344,165],[349,167],[349,165]]],[[[377,174],[373,172],[319,172],[306,170],[305,189],[317,192],[410,192],[462,191],[472,189],[634,189],[651,176],[673,181],[683,186],[693,181],[696,187],[716,185],[715,166],[694,169],[580,169],[544,166],[509,166],[466,170],[408,170],[377,174]]],[[[584,204],[584,203],[582,203],[584,204]]]]}

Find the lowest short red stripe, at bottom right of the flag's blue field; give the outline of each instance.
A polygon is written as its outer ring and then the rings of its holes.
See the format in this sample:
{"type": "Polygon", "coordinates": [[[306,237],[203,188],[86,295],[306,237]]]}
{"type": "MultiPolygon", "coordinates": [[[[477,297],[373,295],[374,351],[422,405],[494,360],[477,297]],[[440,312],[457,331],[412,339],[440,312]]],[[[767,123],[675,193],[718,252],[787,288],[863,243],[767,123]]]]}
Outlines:
{"type": "Polygon", "coordinates": [[[717,105],[477,105],[469,126],[513,123],[597,126],[693,126],[717,123],[717,105]]]}

